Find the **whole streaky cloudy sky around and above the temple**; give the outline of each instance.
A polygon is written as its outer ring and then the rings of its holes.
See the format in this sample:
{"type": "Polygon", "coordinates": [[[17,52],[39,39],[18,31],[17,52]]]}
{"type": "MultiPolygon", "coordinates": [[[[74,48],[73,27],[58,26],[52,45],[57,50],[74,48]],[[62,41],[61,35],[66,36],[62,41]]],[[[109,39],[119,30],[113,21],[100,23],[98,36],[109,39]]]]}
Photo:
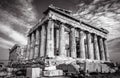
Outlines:
{"type": "Polygon", "coordinates": [[[0,60],[8,59],[8,49],[15,43],[27,43],[28,30],[50,4],[73,11],[79,20],[107,29],[110,58],[120,61],[119,0],[0,0],[0,60]]]}

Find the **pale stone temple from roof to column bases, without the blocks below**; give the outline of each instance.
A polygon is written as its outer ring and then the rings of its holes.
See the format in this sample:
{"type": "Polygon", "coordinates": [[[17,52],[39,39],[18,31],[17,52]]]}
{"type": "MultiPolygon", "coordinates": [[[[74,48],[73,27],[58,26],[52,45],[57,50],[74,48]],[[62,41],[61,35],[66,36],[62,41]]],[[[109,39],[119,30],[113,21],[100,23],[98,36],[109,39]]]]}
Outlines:
{"type": "Polygon", "coordinates": [[[44,18],[28,33],[28,60],[56,56],[109,61],[108,31],[71,16],[70,11],[49,6],[44,18]]]}

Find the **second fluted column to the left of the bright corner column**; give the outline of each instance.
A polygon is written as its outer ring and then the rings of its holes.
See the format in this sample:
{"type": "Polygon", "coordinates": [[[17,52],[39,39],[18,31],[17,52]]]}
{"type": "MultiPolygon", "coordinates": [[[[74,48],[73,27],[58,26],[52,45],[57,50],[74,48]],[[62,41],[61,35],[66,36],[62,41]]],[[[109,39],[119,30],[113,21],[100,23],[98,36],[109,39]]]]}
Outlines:
{"type": "Polygon", "coordinates": [[[39,30],[36,30],[36,35],[35,35],[35,53],[34,53],[34,58],[38,57],[39,53],[39,30]]]}

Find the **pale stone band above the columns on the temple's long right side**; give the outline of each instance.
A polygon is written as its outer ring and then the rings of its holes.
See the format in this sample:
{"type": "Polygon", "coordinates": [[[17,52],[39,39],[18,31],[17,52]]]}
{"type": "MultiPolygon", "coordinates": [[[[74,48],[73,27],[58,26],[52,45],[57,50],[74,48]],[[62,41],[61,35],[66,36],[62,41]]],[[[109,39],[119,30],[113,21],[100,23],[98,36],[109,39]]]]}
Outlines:
{"type": "Polygon", "coordinates": [[[67,23],[69,25],[72,25],[75,28],[80,28],[81,30],[89,31],[90,33],[95,33],[95,34],[97,34],[97,35],[99,35],[99,36],[101,36],[103,38],[107,38],[107,34],[103,33],[102,31],[96,30],[96,29],[94,29],[92,27],[89,27],[89,26],[87,26],[85,24],[82,24],[80,22],[76,22],[74,20],[68,19],[68,18],[66,18],[66,17],[64,17],[64,16],[62,16],[60,14],[57,14],[55,12],[52,12],[52,11],[50,12],[50,14],[51,14],[50,18],[52,18],[53,20],[59,20],[59,21],[61,21],[63,23],[67,23]]]}

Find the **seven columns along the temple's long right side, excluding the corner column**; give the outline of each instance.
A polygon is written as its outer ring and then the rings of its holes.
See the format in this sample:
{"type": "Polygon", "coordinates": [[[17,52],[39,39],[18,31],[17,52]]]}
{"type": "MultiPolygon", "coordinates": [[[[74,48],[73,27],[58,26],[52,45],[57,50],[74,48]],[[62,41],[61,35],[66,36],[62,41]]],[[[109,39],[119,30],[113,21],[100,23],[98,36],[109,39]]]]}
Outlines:
{"type": "MultiPolygon", "coordinates": [[[[71,28],[70,32],[70,52],[71,57],[76,58],[76,37],[75,37],[75,28],[71,28]]],[[[62,24],[60,26],[60,55],[66,56],[65,53],[65,26],[62,24]]],[[[89,32],[79,31],[79,48],[80,48],[80,58],[83,59],[96,59],[96,60],[108,60],[108,53],[106,51],[106,40],[96,34],[91,34],[89,32]],[[87,51],[85,52],[85,36],[86,34],[86,46],[87,51]]]]}

